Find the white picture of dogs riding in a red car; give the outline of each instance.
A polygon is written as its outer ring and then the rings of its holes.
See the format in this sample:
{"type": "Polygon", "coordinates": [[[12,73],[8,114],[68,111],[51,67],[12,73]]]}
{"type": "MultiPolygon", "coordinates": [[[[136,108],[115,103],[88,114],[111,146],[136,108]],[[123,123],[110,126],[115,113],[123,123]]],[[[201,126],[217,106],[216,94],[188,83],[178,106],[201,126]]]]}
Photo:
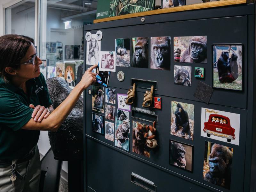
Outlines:
{"type": "Polygon", "coordinates": [[[239,145],[240,114],[201,109],[201,136],[239,145]]]}

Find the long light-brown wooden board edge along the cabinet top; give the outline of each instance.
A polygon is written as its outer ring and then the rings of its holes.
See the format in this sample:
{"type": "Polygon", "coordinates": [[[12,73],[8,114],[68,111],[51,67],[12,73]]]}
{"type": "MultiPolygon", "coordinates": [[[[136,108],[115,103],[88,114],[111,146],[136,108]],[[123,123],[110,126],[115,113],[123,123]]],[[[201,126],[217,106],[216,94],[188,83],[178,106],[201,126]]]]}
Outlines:
{"type": "Polygon", "coordinates": [[[179,7],[157,9],[157,10],[146,11],[146,12],[120,15],[120,16],[116,16],[116,17],[108,17],[108,18],[104,18],[104,19],[97,19],[97,20],[94,20],[93,23],[100,23],[100,22],[105,22],[105,21],[127,19],[127,18],[133,18],[133,17],[143,17],[143,16],[148,16],[148,15],[157,15],[157,14],[162,14],[162,13],[171,13],[171,12],[180,12],[180,11],[188,11],[188,10],[206,9],[206,8],[221,7],[221,6],[236,5],[236,4],[245,4],[245,3],[249,3],[249,2],[246,1],[246,0],[212,1],[212,2],[207,2],[207,3],[184,5],[184,6],[179,6],[179,7]]]}

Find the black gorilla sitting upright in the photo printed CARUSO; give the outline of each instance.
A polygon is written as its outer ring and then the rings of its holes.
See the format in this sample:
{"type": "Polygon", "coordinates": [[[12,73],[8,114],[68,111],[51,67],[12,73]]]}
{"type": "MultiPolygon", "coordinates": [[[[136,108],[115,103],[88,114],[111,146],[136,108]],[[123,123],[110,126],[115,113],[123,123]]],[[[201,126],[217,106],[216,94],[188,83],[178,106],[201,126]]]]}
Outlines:
{"type": "Polygon", "coordinates": [[[190,127],[189,127],[189,118],[187,111],[184,110],[184,108],[180,105],[180,103],[177,104],[177,108],[175,111],[175,132],[177,132],[180,127],[182,127],[181,135],[184,137],[185,134],[191,135],[190,127]]]}

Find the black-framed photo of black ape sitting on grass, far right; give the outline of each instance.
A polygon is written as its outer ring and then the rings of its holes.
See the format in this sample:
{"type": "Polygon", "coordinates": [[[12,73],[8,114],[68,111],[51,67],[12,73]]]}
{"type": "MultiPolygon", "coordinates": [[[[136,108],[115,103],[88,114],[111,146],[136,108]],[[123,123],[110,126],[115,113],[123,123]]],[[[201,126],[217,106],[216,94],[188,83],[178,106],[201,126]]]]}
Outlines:
{"type": "Polygon", "coordinates": [[[242,45],[213,45],[213,87],[242,91],[242,45]]]}

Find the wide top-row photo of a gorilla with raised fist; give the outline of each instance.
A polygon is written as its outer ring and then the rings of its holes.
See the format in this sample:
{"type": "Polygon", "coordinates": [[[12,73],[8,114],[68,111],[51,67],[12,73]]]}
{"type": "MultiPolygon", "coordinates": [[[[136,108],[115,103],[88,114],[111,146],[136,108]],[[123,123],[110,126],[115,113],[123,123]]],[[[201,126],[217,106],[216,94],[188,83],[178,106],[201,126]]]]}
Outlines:
{"type": "Polygon", "coordinates": [[[207,37],[174,37],[174,62],[207,63],[207,37]]]}

